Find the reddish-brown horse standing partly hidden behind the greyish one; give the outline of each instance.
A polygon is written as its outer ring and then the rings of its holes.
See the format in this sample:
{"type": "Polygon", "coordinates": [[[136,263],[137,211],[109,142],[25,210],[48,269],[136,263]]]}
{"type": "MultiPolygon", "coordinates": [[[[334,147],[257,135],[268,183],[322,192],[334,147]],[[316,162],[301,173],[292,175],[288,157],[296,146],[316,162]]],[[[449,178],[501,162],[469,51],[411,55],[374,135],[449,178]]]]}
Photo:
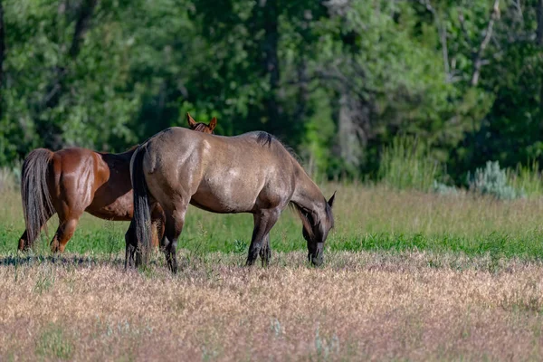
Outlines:
{"type": "MultiPolygon", "coordinates": [[[[216,126],[216,119],[206,125],[196,122],[188,113],[186,118],[191,129],[203,133],[213,133],[216,126]]],[[[87,148],[65,148],[56,152],[34,149],[23,164],[21,195],[26,230],[19,240],[19,250],[33,246],[55,213],[59,215],[59,227],[52,238],[52,252],[64,251],[85,211],[105,220],[131,220],[130,158],[136,149],[120,154],[87,148]]],[[[157,245],[164,235],[165,216],[159,205],[151,214],[157,230],[153,245],[157,245]]]]}

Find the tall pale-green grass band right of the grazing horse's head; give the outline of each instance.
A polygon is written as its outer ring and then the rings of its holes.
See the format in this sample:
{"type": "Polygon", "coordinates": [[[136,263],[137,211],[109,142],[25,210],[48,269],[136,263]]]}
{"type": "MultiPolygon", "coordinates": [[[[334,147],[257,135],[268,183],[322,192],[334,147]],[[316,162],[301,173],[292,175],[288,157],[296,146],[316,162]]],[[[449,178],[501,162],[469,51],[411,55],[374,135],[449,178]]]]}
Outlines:
{"type": "Polygon", "coordinates": [[[469,194],[434,195],[384,186],[338,189],[337,233],[422,233],[457,236],[541,231],[543,198],[497,201],[469,194]]]}

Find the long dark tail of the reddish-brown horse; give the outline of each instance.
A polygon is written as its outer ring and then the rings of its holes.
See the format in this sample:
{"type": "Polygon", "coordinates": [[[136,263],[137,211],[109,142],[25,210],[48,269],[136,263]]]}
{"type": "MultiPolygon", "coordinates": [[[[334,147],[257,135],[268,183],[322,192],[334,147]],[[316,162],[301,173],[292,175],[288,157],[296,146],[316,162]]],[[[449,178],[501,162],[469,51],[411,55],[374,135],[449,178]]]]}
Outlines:
{"type": "Polygon", "coordinates": [[[24,224],[29,246],[42,230],[42,226],[54,213],[49,187],[48,168],[53,153],[49,149],[34,149],[25,159],[21,174],[21,198],[23,199],[24,224]]]}

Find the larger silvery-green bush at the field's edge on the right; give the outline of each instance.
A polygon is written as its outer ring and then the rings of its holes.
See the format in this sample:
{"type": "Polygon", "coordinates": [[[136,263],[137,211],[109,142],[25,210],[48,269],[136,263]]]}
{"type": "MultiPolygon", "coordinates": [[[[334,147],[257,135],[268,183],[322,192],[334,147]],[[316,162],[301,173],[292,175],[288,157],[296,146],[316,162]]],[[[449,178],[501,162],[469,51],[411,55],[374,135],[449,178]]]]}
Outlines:
{"type": "Polygon", "coordinates": [[[484,168],[477,168],[475,174],[468,173],[470,190],[480,195],[491,195],[500,200],[523,197],[524,192],[508,185],[507,173],[498,161],[488,161],[484,168]]]}

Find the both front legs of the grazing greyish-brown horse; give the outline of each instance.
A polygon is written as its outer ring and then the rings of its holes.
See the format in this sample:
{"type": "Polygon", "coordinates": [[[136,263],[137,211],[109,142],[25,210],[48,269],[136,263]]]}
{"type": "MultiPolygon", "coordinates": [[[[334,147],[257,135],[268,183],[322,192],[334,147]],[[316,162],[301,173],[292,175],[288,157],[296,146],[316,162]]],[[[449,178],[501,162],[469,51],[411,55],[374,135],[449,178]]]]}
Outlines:
{"type": "Polygon", "coordinates": [[[252,265],[256,261],[256,258],[260,255],[262,263],[270,260],[270,248],[269,248],[269,233],[273,225],[279,219],[281,214],[280,209],[262,210],[258,214],[254,214],[254,229],[252,230],[251,245],[249,246],[249,254],[247,255],[246,265],[252,265]],[[262,243],[264,243],[264,250],[262,251],[262,243]]]}

